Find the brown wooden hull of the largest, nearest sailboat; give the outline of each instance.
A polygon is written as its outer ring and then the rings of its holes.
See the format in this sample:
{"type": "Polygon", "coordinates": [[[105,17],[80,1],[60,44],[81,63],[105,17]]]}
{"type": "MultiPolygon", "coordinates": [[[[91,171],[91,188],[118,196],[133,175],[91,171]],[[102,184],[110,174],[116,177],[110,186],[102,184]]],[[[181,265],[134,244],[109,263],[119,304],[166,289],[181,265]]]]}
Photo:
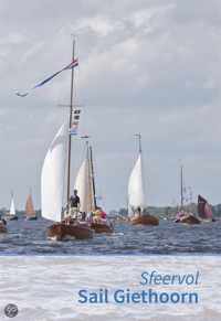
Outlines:
{"type": "Polygon", "coordinates": [[[65,238],[88,239],[93,237],[93,231],[86,224],[56,223],[48,228],[48,237],[56,240],[65,238]]]}

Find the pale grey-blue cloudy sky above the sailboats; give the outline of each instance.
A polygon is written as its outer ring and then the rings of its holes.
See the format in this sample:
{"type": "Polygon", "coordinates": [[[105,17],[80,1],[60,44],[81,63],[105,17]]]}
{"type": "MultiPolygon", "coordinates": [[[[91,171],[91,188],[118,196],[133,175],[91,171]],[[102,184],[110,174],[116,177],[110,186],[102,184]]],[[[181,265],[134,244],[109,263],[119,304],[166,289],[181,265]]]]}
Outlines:
{"type": "MultiPolygon", "coordinates": [[[[193,200],[221,203],[221,2],[219,0],[0,0],[0,207],[13,190],[40,207],[42,163],[67,118],[71,73],[20,98],[71,62],[80,135],[94,149],[97,195],[127,204],[143,137],[148,205],[179,202],[179,170],[193,200]]],[[[72,182],[84,141],[72,143],[72,182]]]]}

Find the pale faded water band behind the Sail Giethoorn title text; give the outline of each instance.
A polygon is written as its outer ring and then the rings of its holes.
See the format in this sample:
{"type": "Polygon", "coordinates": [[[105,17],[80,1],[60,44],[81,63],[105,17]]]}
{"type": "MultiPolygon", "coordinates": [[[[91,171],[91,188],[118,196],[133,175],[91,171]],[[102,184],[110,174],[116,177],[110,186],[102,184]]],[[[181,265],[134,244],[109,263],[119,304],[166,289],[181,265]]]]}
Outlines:
{"type": "MultiPolygon", "coordinates": [[[[8,303],[19,307],[17,321],[71,320],[221,320],[220,263],[213,256],[0,257],[0,320],[8,303]],[[82,288],[140,288],[140,274],[200,270],[200,302],[191,304],[80,304],[82,288]]],[[[158,288],[160,289],[160,288],[158,288]]],[[[164,291],[171,288],[162,288],[164,291]]],[[[173,286],[172,290],[179,290],[173,286]]]]}

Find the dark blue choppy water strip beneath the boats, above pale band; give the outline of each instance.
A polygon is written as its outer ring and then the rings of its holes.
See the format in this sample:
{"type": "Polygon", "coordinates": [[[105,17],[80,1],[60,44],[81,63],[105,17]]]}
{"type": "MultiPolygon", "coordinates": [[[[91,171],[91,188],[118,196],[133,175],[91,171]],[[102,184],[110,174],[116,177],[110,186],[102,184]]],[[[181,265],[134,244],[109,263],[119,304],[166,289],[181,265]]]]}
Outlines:
{"type": "Polygon", "coordinates": [[[44,220],[11,221],[0,234],[0,255],[221,254],[221,221],[196,226],[160,221],[159,226],[116,224],[112,235],[90,240],[46,239],[44,220]]]}

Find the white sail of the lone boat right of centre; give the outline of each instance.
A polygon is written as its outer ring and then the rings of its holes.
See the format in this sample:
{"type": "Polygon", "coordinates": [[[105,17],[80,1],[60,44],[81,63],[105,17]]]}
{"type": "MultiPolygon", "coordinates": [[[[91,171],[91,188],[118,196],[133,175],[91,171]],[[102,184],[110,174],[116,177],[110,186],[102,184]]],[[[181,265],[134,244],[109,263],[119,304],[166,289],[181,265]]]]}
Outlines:
{"type": "Polygon", "coordinates": [[[139,153],[135,167],[129,176],[128,183],[128,213],[133,214],[133,208],[140,207],[144,210],[145,204],[145,188],[143,178],[141,153],[139,153]]]}

